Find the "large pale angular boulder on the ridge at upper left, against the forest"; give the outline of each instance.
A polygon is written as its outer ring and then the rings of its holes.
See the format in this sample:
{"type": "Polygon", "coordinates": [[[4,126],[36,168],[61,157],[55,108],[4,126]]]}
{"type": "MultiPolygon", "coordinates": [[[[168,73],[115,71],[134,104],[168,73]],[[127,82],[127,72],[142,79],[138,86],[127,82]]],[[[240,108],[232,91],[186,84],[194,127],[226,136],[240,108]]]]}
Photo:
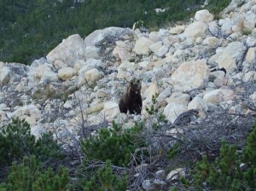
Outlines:
{"type": "Polygon", "coordinates": [[[62,61],[69,67],[73,67],[75,61],[84,59],[84,41],[79,34],[74,34],[62,40],[62,42],[51,50],[46,58],[55,65],[55,61],[62,61]]]}

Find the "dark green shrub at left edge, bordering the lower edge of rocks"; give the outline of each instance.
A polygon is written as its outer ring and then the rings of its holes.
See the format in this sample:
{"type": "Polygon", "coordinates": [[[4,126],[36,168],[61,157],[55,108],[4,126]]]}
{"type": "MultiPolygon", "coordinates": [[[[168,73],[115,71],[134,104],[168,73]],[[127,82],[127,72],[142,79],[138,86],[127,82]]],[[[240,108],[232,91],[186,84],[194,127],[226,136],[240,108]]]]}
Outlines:
{"type": "Polygon", "coordinates": [[[60,146],[54,141],[52,134],[44,134],[36,141],[31,135],[30,125],[24,119],[12,119],[0,132],[0,168],[22,161],[24,156],[37,156],[37,159],[61,158],[60,146]]]}

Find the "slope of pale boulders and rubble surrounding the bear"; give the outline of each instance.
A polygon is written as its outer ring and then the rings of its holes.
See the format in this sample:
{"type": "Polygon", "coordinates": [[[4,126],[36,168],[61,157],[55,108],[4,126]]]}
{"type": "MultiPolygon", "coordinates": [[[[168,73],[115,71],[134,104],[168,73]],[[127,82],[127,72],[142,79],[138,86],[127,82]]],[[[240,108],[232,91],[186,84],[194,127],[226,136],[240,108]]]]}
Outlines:
{"type": "Polygon", "coordinates": [[[224,110],[256,113],[256,1],[232,1],[220,20],[202,9],[183,25],[141,32],[109,27],[64,39],[31,66],[0,62],[0,123],[26,119],[32,134],[55,131],[79,138],[115,120],[129,128],[147,119],[159,94],[160,112],[172,124],[190,110],[201,123],[224,110]],[[224,68],[226,73],[219,68],[224,68]],[[143,82],[143,114],[119,113],[118,101],[133,77],[143,82]]]}

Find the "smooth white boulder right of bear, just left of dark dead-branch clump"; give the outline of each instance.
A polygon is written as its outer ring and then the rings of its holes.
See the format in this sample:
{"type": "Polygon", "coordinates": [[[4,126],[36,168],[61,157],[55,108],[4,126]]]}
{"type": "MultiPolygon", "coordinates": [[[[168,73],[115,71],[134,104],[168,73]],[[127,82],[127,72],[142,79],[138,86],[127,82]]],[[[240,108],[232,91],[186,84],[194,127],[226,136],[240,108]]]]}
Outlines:
{"type": "Polygon", "coordinates": [[[175,119],[181,114],[188,111],[187,107],[182,104],[169,103],[164,109],[164,115],[166,119],[171,123],[174,123],[175,119]]]}

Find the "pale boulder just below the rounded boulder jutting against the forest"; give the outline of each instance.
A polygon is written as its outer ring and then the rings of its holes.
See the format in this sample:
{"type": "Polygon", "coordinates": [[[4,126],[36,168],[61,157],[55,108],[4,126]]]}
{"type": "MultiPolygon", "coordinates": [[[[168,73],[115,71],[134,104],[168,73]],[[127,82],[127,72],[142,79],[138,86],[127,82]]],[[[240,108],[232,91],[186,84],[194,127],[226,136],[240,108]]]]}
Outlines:
{"type": "Polygon", "coordinates": [[[198,37],[205,38],[206,32],[207,32],[207,24],[202,21],[195,21],[189,26],[187,26],[187,28],[183,32],[183,36],[185,38],[193,38],[193,39],[198,37]]]}

